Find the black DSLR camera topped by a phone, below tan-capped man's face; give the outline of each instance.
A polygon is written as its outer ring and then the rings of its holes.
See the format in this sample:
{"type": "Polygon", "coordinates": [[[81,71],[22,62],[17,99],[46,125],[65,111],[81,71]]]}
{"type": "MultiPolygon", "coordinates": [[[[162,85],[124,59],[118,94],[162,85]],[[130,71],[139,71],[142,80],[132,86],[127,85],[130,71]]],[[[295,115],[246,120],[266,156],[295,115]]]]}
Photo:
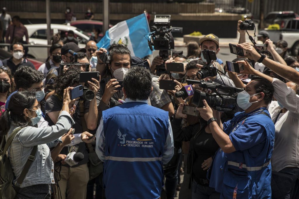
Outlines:
{"type": "Polygon", "coordinates": [[[205,64],[199,72],[196,73],[197,78],[203,79],[206,77],[214,77],[217,75],[217,69],[214,67],[213,64],[211,64],[212,60],[216,60],[216,53],[215,51],[210,50],[203,50],[202,54],[204,55],[204,58],[207,60],[207,64],[205,64]]]}

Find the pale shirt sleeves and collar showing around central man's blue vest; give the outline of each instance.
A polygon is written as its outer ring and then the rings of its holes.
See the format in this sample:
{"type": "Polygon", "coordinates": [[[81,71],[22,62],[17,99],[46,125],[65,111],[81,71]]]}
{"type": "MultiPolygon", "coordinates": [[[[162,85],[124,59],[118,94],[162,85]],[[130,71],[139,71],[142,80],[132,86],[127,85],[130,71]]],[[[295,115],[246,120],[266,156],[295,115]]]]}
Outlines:
{"type": "MultiPolygon", "coordinates": [[[[147,103],[147,100],[132,100],[129,98],[125,99],[126,102],[143,102],[147,103]]],[[[95,152],[97,153],[97,156],[100,158],[101,161],[105,161],[105,135],[104,135],[104,128],[103,128],[103,117],[101,118],[100,125],[96,132],[96,147],[95,152]]],[[[172,128],[170,119],[168,118],[168,135],[166,138],[166,142],[164,144],[164,153],[162,157],[163,164],[166,164],[170,161],[170,159],[173,157],[173,134],[172,134],[172,128]]]]}

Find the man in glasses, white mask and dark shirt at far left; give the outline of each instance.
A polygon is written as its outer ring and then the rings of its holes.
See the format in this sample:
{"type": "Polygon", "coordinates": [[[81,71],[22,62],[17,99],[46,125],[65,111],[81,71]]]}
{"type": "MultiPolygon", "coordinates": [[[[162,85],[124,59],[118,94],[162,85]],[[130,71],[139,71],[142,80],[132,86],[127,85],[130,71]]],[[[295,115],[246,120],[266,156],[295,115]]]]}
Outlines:
{"type": "Polygon", "coordinates": [[[3,60],[3,65],[11,70],[13,75],[20,66],[30,66],[35,69],[34,65],[23,56],[25,55],[24,46],[22,43],[15,43],[10,46],[12,56],[3,60]]]}

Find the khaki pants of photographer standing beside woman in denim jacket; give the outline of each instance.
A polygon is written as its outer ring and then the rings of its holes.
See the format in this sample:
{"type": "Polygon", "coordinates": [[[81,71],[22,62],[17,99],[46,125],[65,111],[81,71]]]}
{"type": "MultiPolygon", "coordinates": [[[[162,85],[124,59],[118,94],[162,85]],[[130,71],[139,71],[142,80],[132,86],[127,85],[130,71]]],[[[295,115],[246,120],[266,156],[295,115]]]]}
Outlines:
{"type": "MultiPolygon", "coordinates": [[[[89,170],[87,163],[76,166],[76,167],[66,167],[61,166],[61,180],[58,182],[62,199],[65,199],[65,193],[68,195],[69,199],[85,199],[86,198],[86,188],[89,181],[89,170]]],[[[58,178],[58,173],[54,172],[56,178],[58,178]]],[[[55,190],[55,198],[59,198],[59,191],[55,190]]]]}

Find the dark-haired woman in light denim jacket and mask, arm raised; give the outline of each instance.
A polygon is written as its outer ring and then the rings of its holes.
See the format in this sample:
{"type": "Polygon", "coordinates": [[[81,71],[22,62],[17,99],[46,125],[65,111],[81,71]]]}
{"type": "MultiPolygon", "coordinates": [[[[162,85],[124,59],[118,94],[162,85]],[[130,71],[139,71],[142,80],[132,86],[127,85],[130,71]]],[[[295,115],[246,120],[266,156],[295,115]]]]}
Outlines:
{"type": "Polygon", "coordinates": [[[13,184],[20,186],[16,198],[50,198],[50,184],[54,183],[54,164],[47,143],[58,139],[69,131],[74,124],[69,114],[68,104],[71,102],[69,90],[64,90],[63,106],[55,125],[37,128],[42,117],[40,105],[35,93],[31,91],[16,92],[10,98],[6,111],[0,118],[0,135],[7,140],[10,134],[21,127],[8,148],[8,158],[15,179],[13,184]],[[17,179],[24,169],[32,150],[37,146],[35,158],[22,181],[17,179]]]}

